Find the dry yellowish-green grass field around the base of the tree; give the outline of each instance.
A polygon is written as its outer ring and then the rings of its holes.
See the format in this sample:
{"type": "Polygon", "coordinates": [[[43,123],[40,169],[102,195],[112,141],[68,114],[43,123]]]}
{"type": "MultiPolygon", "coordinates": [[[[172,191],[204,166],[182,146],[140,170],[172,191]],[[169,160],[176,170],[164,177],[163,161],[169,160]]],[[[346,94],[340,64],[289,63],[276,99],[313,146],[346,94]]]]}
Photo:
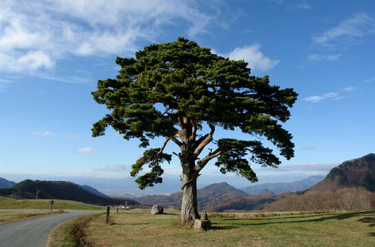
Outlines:
{"type": "Polygon", "coordinates": [[[86,221],[81,219],[85,222],[81,237],[98,247],[375,246],[375,210],[252,218],[211,217],[210,220],[211,230],[196,231],[181,226],[178,215],[168,214],[168,211],[164,215],[151,215],[149,210],[111,213],[111,224],[105,224],[103,214],[86,221]]]}

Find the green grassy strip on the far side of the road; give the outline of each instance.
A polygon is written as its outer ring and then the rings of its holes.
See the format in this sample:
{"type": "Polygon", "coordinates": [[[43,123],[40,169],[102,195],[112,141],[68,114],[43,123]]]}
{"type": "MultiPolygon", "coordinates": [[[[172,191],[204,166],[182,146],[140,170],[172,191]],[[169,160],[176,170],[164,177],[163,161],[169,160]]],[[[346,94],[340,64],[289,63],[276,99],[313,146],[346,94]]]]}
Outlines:
{"type": "MultiPolygon", "coordinates": [[[[50,200],[16,200],[0,196],[0,209],[50,209],[50,200]]],[[[70,200],[54,200],[53,209],[104,210],[105,207],[70,200]]]]}

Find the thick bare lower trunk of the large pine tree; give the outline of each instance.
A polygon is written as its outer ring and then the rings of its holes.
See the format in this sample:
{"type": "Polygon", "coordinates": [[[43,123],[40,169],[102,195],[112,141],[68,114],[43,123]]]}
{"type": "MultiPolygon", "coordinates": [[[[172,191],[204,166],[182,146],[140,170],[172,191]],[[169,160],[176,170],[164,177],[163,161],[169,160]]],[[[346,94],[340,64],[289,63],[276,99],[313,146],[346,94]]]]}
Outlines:
{"type": "Polygon", "coordinates": [[[181,204],[181,221],[182,224],[194,224],[195,219],[199,219],[200,215],[197,209],[197,178],[196,176],[187,176],[183,174],[183,189],[181,204]],[[190,181],[190,182],[189,182],[190,181]],[[188,183],[189,182],[189,183],[188,183]]]}

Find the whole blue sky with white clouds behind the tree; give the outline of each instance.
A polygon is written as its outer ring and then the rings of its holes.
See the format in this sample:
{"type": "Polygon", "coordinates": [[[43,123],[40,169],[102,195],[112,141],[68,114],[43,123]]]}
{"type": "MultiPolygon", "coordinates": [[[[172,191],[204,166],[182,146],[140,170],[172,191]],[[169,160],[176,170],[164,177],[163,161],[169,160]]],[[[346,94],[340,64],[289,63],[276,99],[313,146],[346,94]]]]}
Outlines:
{"type": "MultiPolygon", "coordinates": [[[[113,130],[91,137],[92,124],[106,110],[90,92],[97,80],[115,78],[116,56],[178,36],[246,60],[254,75],[267,74],[272,84],[299,93],[284,125],[294,137],[295,157],[279,169],[255,167],[259,183],[325,175],[347,159],[375,152],[374,1],[5,0],[0,176],[129,176],[143,150],[113,130]]],[[[173,143],[168,150],[175,150],[173,143]]],[[[220,175],[213,163],[198,185],[249,185],[235,174],[220,175]]],[[[166,178],[178,178],[177,158],[164,168],[166,178]]]]}

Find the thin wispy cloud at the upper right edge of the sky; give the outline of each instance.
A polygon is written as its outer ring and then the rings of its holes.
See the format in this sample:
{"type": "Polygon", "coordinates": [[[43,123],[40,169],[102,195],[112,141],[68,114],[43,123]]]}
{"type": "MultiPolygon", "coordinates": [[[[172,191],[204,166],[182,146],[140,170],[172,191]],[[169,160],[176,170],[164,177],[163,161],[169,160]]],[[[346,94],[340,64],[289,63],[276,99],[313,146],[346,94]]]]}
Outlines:
{"type": "Polygon", "coordinates": [[[356,14],[352,18],[342,21],[336,27],[325,31],[321,36],[313,37],[318,45],[335,47],[336,41],[358,42],[361,38],[375,30],[375,21],[367,14],[356,14]]]}

